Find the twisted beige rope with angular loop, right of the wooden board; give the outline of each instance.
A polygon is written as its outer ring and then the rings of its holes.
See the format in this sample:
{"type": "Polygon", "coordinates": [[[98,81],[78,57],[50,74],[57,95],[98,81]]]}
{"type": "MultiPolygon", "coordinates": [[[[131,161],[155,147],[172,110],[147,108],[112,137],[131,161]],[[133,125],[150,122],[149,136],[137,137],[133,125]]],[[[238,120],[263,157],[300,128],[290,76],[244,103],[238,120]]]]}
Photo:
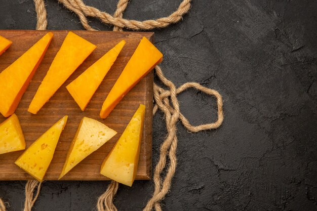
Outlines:
{"type": "Polygon", "coordinates": [[[221,95],[215,91],[201,86],[199,83],[195,82],[187,82],[184,85],[180,86],[176,89],[174,83],[168,80],[161,68],[159,66],[155,67],[156,75],[160,78],[160,80],[164,83],[169,90],[164,90],[163,88],[157,86],[154,83],[154,100],[155,105],[153,108],[153,115],[156,113],[157,109],[160,108],[165,114],[166,119],[166,128],[168,131],[168,136],[164,140],[161,149],[160,149],[160,158],[159,162],[156,164],[154,170],[154,193],[152,198],[147,202],[147,205],[143,209],[144,211],[152,210],[152,207],[155,207],[156,211],[161,211],[160,201],[164,198],[164,196],[168,193],[171,187],[171,181],[174,176],[176,170],[176,148],[177,148],[177,134],[176,134],[176,123],[178,119],[181,120],[185,128],[190,132],[199,132],[202,130],[210,130],[218,128],[223,121],[223,111],[222,111],[222,97],[221,95]],[[205,92],[208,95],[212,95],[217,100],[218,106],[218,120],[214,123],[202,124],[198,126],[193,126],[189,123],[188,119],[180,112],[179,102],[177,100],[177,94],[189,89],[195,88],[202,92],[205,92]],[[169,100],[170,98],[170,100],[169,100]],[[172,106],[170,105],[170,101],[172,106]],[[166,156],[169,156],[170,164],[167,170],[167,174],[165,179],[161,178],[161,174],[166,167],[166,156]],[[163,182],[161,182],[163,180],[163,182]]]}

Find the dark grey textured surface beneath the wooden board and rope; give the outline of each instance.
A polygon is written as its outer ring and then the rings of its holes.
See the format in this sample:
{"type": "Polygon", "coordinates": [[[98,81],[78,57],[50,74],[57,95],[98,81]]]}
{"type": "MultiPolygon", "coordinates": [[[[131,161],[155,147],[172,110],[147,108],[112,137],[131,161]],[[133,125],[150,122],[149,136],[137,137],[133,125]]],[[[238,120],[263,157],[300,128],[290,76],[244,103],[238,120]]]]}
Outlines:
{"type": "MultiPolygon", "coordinates": [[[[116,0],[85,1],[113,13],[116,0]]],[[[159,18],[180,0],[133,0],[124,17],[159,18]]],[[[0,29],[34,29],[31,0],[0,0],[0,29]]],[[[48,29],[84,29],[47,1],[48,29]]],[[[100,30],[111,27],[90,19],[100,30]]],[[[177,86],[196,81],[218,90],[225,121],[197,134],[178,124],[178,165],[164,210],[317,210],[317,1],[194,0],[180,23],[155,30],[161,67],[177,86]]],[[[193,124],[214,121],[214,99],[179,95],[193,124]]],[[[153,122],[153,164],[166,135],[153,122]]],[[[46,182],[34,210],[95,210],[108,182],[46,182]]],[[[21,210],[25,182],[0,182],[9,210],[21,210]]],[[[120,186],[118,210],[141,210],[152,181],[120,186]]]]}

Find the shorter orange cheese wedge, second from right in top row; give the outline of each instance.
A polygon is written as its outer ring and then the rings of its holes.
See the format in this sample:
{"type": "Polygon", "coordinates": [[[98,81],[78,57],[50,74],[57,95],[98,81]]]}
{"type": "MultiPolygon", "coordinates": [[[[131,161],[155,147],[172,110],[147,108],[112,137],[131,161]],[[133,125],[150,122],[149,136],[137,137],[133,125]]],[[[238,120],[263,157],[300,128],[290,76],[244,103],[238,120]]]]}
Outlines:
{"type": "Polygon", "coordinates": [[[120,41],[120,43],[118,43],[98,61],[91,65],[85,72],[67,85],[66,88],[68,92],[76,101],[78,106],[80,106],[82,111],[85,110],[90,99],[93,97],[101,81],[106,76],[125,44],[125,40],[120,41]]]}

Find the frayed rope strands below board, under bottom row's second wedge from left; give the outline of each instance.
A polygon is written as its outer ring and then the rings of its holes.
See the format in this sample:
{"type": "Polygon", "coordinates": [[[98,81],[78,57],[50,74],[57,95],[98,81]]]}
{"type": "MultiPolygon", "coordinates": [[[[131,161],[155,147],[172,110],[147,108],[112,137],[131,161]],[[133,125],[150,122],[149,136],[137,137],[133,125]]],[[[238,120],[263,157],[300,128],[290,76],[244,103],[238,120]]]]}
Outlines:
{"type": "Polygon", "coordinates": [[[36,181],[36,180],[29,180],[27,181],[25,185],[25,202],[24,202],[24,209],[23,211],[31,211],[32,207],[39,195],[39,191],[41,190],[42,183],[36,181]],[[35,196],[34,190],[37,188],[35,196]]]}

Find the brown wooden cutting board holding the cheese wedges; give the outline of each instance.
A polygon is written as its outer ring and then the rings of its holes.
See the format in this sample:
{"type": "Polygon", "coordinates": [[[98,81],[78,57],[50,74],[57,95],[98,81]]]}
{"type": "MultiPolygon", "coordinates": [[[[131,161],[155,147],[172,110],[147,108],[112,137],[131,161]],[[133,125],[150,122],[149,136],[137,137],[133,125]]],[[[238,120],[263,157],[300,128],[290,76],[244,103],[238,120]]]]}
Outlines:
{"type": "MultiPolygon", "coordinates": [[[[12,46],[0,56],[0,72],[13,63],[25,51],[27,51],[36,41],[44,36],[48,31],[35,30],[0,30],[0,35],[13,41],[12,46]]],[[[151,153],[152,153],[152,106],[153,106],[153,71],[145,76],[124,99],[114,108],[106,119],[99,117],[99,112],[103,101],[111,90],[114,82],[126,66],[133,52],[139,44],[140,39],[145,36],[153,42],[152,32],[112,32],[112,31],[73,31],[97,46],[96,50],[77,68],[77,70],[67,79],[64,85],[55,93],[44,107],[34,115],[27,112],[27,108],[47,70],[50,67],[57,51],[67,34],[67,30],[52,31],[54,37],[47,53],[39,67],[37,68],[29,87],[23,95],[16,110],[22,130],[26,140],[26,147],[30,146],[39,136],[47,131],[57,120],[64,115],[68,115],[67,124],[61,134],[60,140],[51,165],[45,176],[45,180],[57,180],[62,170],[66,154],[70,143],[75,135],[78,124],[84,116],[94,118],[103,122],[109,128],[117,131],[117,135],[106,144],[93,152],[81,163],[76,165],[63,180],[107,180],[100,172],[100,166],[109,153],[115,142],[122,135],[134,112],[140,103],[146,106],[143,137],[141,142],[139,167],[136,179],[148,180],[151,177],[151,153]],[[117,57],[110,71],[102,81],[97,92],[88,104],[86,110],[81,111],[73,98],[66,90],[72,80],[85,71],[90,65],[97,61],[107,51],[113,48],[122,39],[126,40],[122,52],[117,57]]],[[[1,90],[0,90],[1,92],[1,90]]],[[[1,115],[0,122],[5,117],[1,115]]],[[[11,152],[0,155],[0,180],[28,180],[33,179],[14,161],[22,153],[11,152]]]]}

